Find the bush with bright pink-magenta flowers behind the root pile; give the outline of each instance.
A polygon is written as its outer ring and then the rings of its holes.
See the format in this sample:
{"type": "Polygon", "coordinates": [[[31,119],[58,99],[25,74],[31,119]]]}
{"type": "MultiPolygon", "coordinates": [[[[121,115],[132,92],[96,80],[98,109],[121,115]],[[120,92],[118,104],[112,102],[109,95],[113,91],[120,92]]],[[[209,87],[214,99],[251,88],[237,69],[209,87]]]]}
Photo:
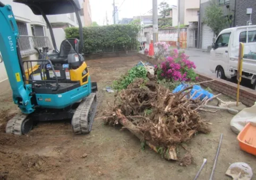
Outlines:
{"type": "Polygon", "coordinates": [[[155,66],[158,79],[168,79],[174,81],[190,81],[196,80],[197,74],[194,72],[196,68],[194,62],[190,61],[183,52],[177,49],[169,51],[168,56],[155,66]]]}

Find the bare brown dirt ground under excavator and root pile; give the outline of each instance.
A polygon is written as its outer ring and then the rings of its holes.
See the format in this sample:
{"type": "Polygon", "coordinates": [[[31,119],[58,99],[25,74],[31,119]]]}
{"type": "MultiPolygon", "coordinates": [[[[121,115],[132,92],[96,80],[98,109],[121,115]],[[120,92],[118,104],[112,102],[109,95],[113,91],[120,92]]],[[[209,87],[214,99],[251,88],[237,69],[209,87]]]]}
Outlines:
{"type": "MultiPolygon", "coordinates": [[[[134,56],[90,60],[87,64],[101,90],[138,61],[140,58],[134,56]]],[[[228,112],[202,114],[212,123],[212,132],[198,134],[185,145],[194,162],[182,167],[176,161],[161,159],[149,148],[141,150],[140,140],[129,131],[105,126],[100,119],[86,136],[73,135],[69,121],[39,123],[26,136],[5,134],[7,120],[19,111],[11,93],[0,95],[0,179],[193,179],[203,158],[208,161],[198,179],[209,179],[221,133],[224,137],[214,179],[231,179],[225,172],[237,161],[256,169],[255,156],[240,150],[236,134],[229,128],[233,115],[228,112]]],[[[101,94],[97,117],[114,96],[104,91],[101,94]]]]}

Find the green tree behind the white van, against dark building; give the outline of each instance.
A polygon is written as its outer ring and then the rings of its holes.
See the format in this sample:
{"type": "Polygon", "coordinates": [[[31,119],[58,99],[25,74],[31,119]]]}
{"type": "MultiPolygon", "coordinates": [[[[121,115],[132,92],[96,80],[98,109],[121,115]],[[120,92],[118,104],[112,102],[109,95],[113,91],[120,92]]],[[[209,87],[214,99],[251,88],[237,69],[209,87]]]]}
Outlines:
{"type": "Polygon", "coordinates": [[[216,36],[230,23],[230,16],[225,16],[222,8],[215,1],[212,1],[210,6],[206,8],[205,15],[206,18],[203,22],[214,31],[216,36]]]}

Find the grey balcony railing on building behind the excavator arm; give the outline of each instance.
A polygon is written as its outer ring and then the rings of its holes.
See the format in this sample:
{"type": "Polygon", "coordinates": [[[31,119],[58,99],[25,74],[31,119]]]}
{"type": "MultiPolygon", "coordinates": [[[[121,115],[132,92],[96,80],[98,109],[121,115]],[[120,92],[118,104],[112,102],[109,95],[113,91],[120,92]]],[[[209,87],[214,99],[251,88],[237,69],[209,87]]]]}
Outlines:
{"type": "Polygon", "coordinates": [[[37,53],[36,48],[48,47],[52,50],[52,44],[48,37],[45,36],[28,36],[21,35],[19,38],[21,57],[28,57],[37,53]]]}

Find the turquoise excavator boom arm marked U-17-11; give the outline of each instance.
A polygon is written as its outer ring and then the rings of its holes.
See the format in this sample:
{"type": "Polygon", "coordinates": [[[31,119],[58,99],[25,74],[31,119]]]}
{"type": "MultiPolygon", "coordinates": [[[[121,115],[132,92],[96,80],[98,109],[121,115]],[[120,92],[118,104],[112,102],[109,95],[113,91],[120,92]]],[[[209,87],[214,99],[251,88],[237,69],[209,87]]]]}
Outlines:
{"type": "Polygon", "coordinates": [[[18,26],[12,7],[0,2],[0,52],[5,65],[8,80],[13,91],[13,101],[23,113],[34,111],[31,104],[32,88],[24,83],[23,64],[18,46],[18,26]]]}

